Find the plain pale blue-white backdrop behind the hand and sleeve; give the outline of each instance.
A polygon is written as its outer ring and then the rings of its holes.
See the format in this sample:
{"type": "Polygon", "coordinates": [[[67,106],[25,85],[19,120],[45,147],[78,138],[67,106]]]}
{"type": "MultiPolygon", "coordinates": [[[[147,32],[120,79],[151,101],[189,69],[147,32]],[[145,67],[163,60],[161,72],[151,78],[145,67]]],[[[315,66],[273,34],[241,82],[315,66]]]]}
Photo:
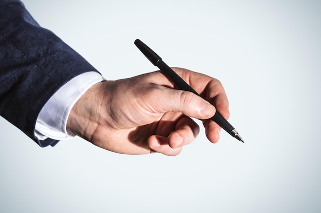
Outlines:
{"type": "Polygon", "coordinates": [[[156,70],[136,38],[219,79],[245,144],[224,131],[211,144],[198,122],[175,157],[79,137],[39,148],[0,118],[1,212],[321,211],[320,1],[23,2],[106,79],[156,70]]]}

